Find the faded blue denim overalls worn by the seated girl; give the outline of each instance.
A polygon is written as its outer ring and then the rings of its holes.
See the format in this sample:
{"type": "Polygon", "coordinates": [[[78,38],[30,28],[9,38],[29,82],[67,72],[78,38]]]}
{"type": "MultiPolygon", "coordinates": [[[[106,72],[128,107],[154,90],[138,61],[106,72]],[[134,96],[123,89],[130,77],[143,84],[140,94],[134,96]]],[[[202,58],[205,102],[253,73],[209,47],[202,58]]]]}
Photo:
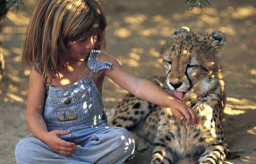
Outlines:
{"type": "MultiPolygon", "coordinates": [[[[99,50],[92,50],[87,67],[93,73],[111,69],[112,63],[98,62],[99,50]]],[[[43,118],[48,131],[70,129],[60,136],[76,144],[78,149],[70,156],[52,151],[32,134],[21,139],[15,156],[18,164],[122,164],[134,156],[134,139],[122,127],[107,125],[103,102],[92,76],[67,87],[46,84],[43,118]]]]}

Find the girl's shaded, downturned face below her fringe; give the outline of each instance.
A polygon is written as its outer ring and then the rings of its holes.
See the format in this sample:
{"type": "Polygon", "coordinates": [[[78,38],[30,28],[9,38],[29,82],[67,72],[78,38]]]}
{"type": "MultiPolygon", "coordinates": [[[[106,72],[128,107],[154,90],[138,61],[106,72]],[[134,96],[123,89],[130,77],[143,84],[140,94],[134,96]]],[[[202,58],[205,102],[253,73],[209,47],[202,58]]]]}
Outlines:
{"type": "Polygon", "coordinates": [[[72,59],[84,59],[97,44],[97,36],[81,38],[70,42],[68,47],[68,57],[72,59]]]}

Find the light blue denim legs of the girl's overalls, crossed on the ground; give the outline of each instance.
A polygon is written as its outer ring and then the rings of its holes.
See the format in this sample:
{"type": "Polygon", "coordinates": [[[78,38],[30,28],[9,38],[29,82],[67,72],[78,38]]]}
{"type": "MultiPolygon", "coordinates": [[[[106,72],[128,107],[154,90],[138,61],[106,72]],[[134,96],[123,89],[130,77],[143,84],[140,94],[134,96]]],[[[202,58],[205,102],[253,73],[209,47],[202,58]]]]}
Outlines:
{"type": "Polygon", "coordinates": [[[70,156],[52,151],[43,141],[32,135],[21,139],[15,156],[18,164],[123,164],[134,156],[132,135],[122,127],[110,127],[106,123],[85,128],[76,126],[71,133],[61,136],[77,145],[70,156]]]}

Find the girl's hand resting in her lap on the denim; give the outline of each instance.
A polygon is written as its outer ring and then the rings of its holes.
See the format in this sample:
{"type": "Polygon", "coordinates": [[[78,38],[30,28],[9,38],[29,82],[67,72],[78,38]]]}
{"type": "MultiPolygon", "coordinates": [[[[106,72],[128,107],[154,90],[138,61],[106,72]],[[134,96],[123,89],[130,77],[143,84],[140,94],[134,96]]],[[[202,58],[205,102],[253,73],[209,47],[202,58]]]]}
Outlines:
{"type": "Polygon", "coordinates": [[[53,130],[47,133],[44,142],[55,152],[60,155],[69,156],[77,150],[72,142],[60,139],[60,135],[69,134],[71,130],[53,130]]]}

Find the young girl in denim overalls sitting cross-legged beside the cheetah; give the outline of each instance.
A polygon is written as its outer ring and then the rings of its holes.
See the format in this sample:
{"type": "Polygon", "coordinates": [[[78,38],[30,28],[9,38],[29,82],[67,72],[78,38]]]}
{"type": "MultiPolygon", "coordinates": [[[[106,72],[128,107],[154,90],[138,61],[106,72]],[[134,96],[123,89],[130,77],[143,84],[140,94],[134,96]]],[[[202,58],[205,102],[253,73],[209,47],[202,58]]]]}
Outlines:
{"type": "Polygon", "coordinates": [[[113,164],[132,158],[132,135],[107,125],[105,76],[141,99],[170,107],[181,120],[198,122],[185,104],[100,52],[106,25],[98,0],[39,0],[22,54],[23,64],[33,67],[26,114],[32,134],[18,142],[17,163],[113,164]]]}

